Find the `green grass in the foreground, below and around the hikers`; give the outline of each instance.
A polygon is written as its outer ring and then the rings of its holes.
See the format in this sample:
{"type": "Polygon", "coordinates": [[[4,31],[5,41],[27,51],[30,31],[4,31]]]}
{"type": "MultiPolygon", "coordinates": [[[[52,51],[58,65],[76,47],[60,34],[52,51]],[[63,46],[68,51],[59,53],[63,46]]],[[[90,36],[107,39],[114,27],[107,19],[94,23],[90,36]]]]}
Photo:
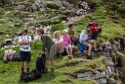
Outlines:
{"type": "MultiPolygon", "coordinates": [[[[35,69],[35,60],[39,56],[41,50],[41,42],[35,42],[32,44],[32,60],[31,70],[35,69]],[[37,47],[36,47],[37,46],[37,47]]],[[[19,48],[15,48],[19,50],[19,48]]],[[[2,51],[0,52],[2,53],[2,51]]],[[[2,54],[0,54],[1,56],[2,54]]],[[[26,84],[20,81],[20,63],[9,62],[4,64],[0,60],[0,84],[26,84]]],[[[106,67],[105,57],[101,56],[95,60],[86,60],[81,58],[75,58],[68,61],[68,57],[64,56],[55,59],[55,72],[44,73],[38,80],[29,82],[28,84],[95,84],[92,80],[77,79],[76,73],[85,70],[91,71],[103,71],[106,67]],[[73,75],[73,76],[72,76],[73,75]],[[74,77],[75,76],[75,77],[74,77]]],[[[50,65],[49,65],[50,69],[50,65]]]]}

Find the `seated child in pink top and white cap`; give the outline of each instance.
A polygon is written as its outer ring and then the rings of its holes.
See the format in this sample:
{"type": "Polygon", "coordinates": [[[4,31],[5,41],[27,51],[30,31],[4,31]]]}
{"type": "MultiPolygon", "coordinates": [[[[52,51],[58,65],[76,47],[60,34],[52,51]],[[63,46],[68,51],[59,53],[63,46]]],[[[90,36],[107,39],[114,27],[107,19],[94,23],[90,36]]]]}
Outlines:
{"type": "Polygon", "coordinates": [[[72,45],[71,45],[72,42],[71,42],[70,36],[68,35],[68,30],[67,29],[63,30],[62,38],[63,38],[63,45],[64,45],[64,48],[66,49],[68,57],[73,58],[72,45]]]}

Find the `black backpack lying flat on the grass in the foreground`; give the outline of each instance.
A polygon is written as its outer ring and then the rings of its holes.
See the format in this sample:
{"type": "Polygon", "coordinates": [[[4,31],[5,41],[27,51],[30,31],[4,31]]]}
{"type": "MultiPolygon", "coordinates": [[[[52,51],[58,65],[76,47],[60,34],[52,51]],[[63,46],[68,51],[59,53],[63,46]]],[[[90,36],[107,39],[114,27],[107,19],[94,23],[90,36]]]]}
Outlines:
{"type": "Polygon", "coordinates": [[[34,69],[31,72],[23,73],[21,75],[21,80],[25,82],[29,82],[29,81],[39,79],[40,77],[41,77],[41,72],[37,69],[34,69]]]}

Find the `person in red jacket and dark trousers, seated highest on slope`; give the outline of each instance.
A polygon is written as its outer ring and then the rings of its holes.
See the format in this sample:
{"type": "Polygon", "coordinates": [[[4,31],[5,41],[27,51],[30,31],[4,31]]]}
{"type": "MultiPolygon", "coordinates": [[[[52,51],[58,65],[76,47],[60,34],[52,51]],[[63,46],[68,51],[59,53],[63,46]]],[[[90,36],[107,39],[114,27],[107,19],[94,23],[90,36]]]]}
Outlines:
{"type": "Polygon", "coordinates": [[[96,40],[97,37],[101,34],[102,28],[98,25],[95,18],[92,18],[91,22],[89,22],[87,28],[90,28],[92,30],[92,36],[91,38],[96,40]]]}

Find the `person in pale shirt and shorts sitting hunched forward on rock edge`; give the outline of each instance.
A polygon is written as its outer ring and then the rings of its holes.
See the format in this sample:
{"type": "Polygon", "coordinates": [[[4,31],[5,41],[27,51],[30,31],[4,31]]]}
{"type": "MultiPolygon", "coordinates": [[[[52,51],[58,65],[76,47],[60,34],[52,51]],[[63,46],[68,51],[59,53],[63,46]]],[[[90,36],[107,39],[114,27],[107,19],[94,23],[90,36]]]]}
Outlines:
{"type": "Polygon", "coordinates": [[[80,34],[80,39],[79,42],[84,45],[85,47],[88,47],[88,59],[91,59],[91,50],[92,50],[92,45],[94,46],[95,52],[97,52],[96,48],[96,41],[91,40],[91,29],[87,28],[86,30],[83,30],[82,33],[80,34]]]}

